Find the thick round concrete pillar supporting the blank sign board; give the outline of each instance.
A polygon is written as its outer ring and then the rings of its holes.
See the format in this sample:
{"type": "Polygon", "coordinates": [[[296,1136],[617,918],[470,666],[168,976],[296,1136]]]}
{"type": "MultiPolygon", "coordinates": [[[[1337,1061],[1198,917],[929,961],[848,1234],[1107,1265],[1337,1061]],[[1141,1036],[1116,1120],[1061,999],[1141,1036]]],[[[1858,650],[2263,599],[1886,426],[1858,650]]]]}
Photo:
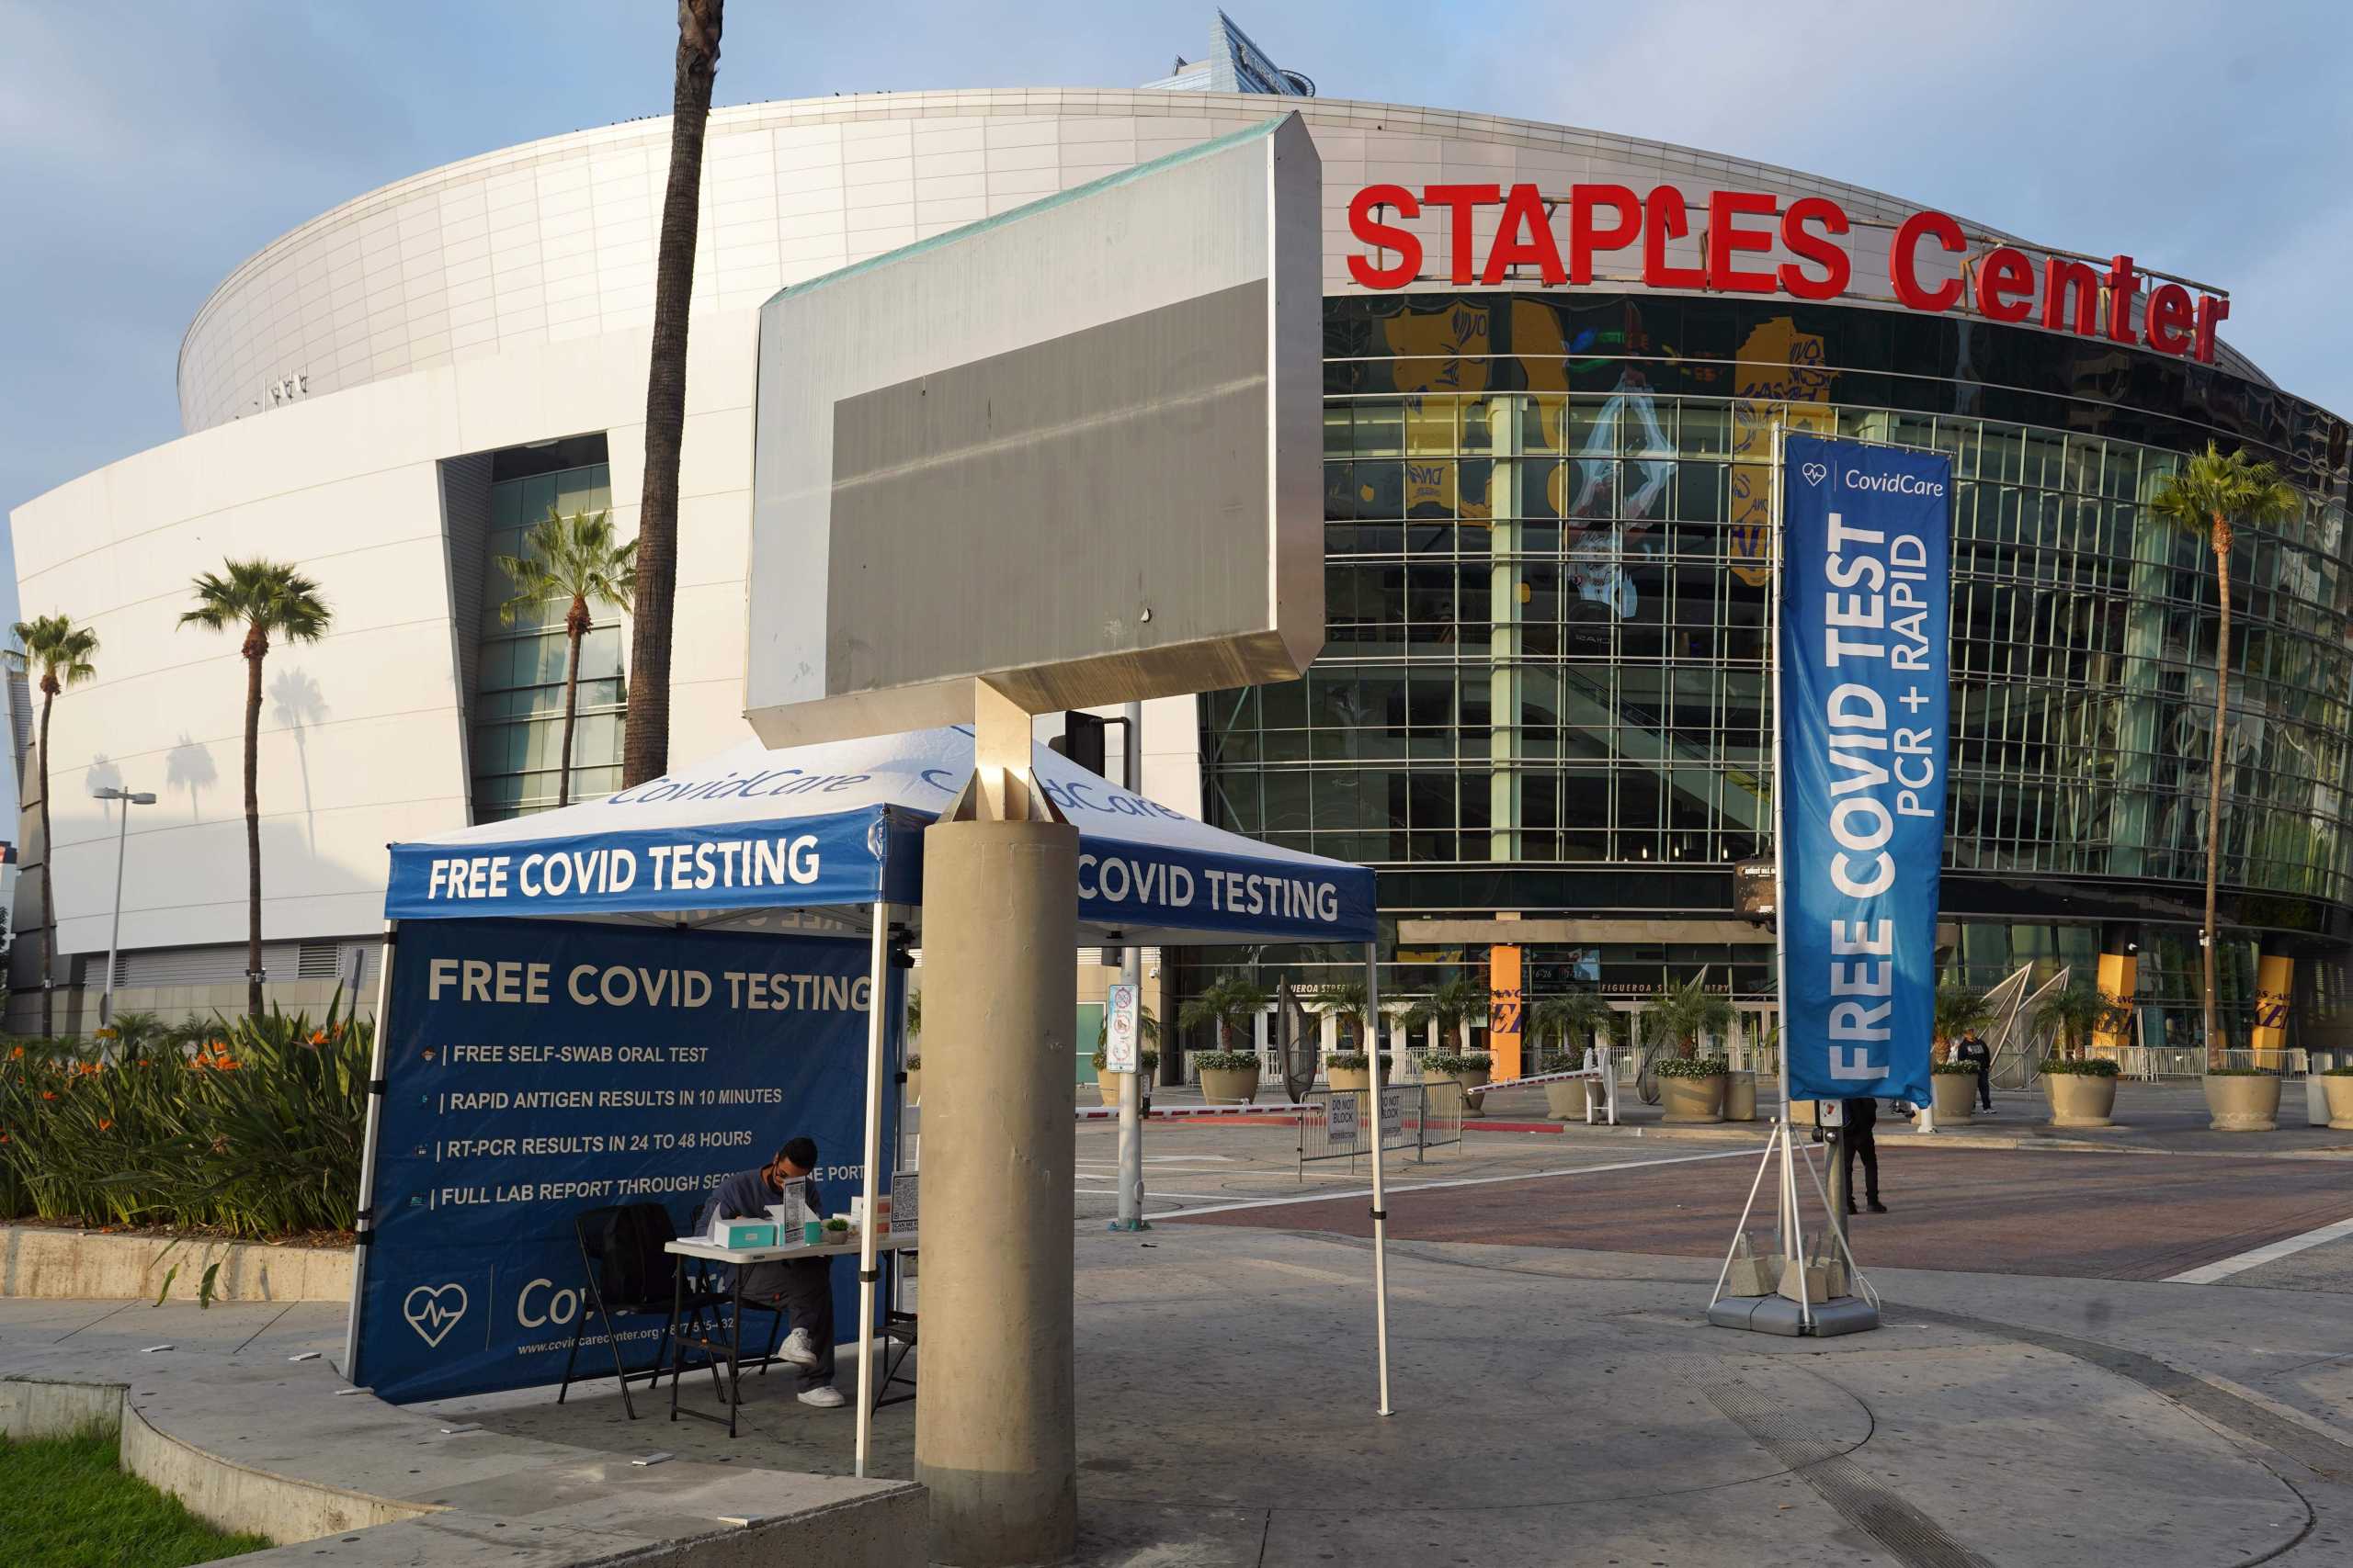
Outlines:
{"type": "Polygon", "coordinates": [[[932,1561],[1054,1563],[1078,1533],[1071,1053],[1078,830],[922,846],[922,1399],[932,1561]]]}

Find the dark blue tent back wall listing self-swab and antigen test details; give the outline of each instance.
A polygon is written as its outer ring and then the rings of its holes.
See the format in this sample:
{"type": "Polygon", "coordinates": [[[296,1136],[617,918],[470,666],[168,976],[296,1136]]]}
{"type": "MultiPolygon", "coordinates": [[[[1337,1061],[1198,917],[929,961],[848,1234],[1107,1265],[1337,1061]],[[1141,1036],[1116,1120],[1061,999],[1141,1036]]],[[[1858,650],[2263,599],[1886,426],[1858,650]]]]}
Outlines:
{"type": "MultiPolygon", "coordinates": [[[[353,1382],[395,1403],[555,1382],[588,1284],[574,1218],[652,1201],[687,1234],[722,1175],[793,1135],[816,1140],[826,1208],[847,1213],[868,961],[840,938],[402,926],[353,1382]]],[[[894,1138],[885,1093],[882,1192],[894,1138]]],[[[856,1267],[833,1269],[833,1309],[854,1340],[856,1267]]],[[[652,1363],[659,1316],[619,1333],[631,1368],[652,1363]]],[[[576,1371],[612,1375],[602,1321],[576,1371]]]]}

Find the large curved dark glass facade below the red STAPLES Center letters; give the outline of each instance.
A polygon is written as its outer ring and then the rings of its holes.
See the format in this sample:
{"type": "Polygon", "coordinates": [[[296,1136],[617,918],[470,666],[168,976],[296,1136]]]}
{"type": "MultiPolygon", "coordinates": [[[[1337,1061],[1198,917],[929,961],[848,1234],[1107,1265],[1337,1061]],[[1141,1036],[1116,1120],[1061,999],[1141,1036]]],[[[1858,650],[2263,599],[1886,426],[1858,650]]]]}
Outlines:
{"type": "MultiPolygon", "coordinates": [[[[1379,865],[1391,914],[1727,917],[1729,865],[1772,849],[1772,425],[1932,447],[1958,480],[1953,971],[2089,978],[2104,926],[2146,924],[2160,992],[2195,997],[2219,618],[2212,555],[2146,503],[2214,440],[2306,498],[2233,555],[2226,990],[2252,1009],[2282,933],[2341,950],[2344,421],[2104,341],[1852,306],[1409,294],[1325,322],[1327,642],[1306,679],[1202,698],[1209,820],[1379,865]]],[[[1407,952],[1395,985],[1482,957],[1407,952]]],[[[1769,947],[1529,959],[1539,990],[1769,985],[1769,947]]]]}

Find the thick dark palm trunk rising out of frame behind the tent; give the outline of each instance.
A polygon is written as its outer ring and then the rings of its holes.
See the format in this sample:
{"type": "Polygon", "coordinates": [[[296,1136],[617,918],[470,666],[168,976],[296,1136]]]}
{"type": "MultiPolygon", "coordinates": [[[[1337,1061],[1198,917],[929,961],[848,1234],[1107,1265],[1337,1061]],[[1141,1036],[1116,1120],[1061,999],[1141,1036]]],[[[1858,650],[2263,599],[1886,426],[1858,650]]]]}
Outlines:
{"type": "Polygon", "coordinates": [[[687,430],[687,296],[704,193],[704,127],[720,68],[725,0],[678,0],[671,78],[671,183],[654,249],[654,350],[645,369],[645,489],[638,505],[638,618],[628,644],[621,783],[671,766],[671,607],[678,597],[678,449],[687,430]]]}

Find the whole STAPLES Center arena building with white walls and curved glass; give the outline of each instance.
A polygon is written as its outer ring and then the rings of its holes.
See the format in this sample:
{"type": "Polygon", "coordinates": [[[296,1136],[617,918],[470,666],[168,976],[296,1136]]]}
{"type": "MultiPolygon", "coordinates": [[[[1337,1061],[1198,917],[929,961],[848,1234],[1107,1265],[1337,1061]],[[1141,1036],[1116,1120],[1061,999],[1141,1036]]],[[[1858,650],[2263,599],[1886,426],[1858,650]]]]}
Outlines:
{"type": "MultiPolygon", "coordinates": [[[[2238,1039],[2341,1032],[2346,423],[2231,348],[2224,289],[1737,153],[1313,96],[1224,16],[1212,42],[1141,89],[713,113],[673,757],[746,736],[758,306],[1299,113],[1325,176],[1329,639],[1301,682],[1153,703],[1153,795],[1379,865],[1398,994],[1471,971],[1633,999],[1706,971],[1760,1027],[1769,936],[1734,882],[1772,851],[1772,428],[1934,447],[1958,475],[1951,973],[2068,964],[2132,994],[2146,1041],[2191,1044],[2217,607],[2205,550],[2146,503],[2205,442],[2245,447],[2306,505],[2235,557],[2224,1006],[2238,1039]]],[[[104,637],[54,712],[56,844],[31,804],[21,835],[26,870],[54,860],[68,1020],[104,983],[108,785],[162,797],[127,835],[122,1006],[242,999],[242,670],[176,625],[226,555],[301,562],[334,607],[268,663],[275,994],[372,971],[386,842],[553,804],[562,630],[499,618],[492,557],[548,508],[635,527],[666,160],[668,122],[640,120],[320,214],[198,310],[184,437],[12,512],[26,614],[104,637]]],[[[574,795],[619,783],[624,632],[602,611],[588,635],[574,795]]],[[[1188,954],[1162,1004],[1327,959],[1188,954]]]]}

